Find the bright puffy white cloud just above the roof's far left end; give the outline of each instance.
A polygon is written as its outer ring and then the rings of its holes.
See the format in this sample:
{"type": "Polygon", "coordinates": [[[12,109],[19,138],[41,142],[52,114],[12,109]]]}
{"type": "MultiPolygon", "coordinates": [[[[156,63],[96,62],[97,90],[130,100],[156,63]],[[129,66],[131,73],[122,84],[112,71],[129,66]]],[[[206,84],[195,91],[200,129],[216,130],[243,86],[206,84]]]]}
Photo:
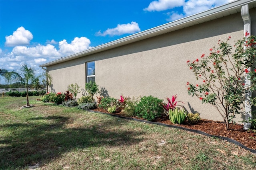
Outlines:
{"type": "Polygon", "coordinates": [[[78,53],[86,49],[89,49],[90,43],[91,43],[90,39],[86,37],[80,37],[80,38],[75,37],[70,44],[68,44],[66,39],[64,39],[59,42],[59,48],[60,48],[59,52],[63,56],[78,53]]]}

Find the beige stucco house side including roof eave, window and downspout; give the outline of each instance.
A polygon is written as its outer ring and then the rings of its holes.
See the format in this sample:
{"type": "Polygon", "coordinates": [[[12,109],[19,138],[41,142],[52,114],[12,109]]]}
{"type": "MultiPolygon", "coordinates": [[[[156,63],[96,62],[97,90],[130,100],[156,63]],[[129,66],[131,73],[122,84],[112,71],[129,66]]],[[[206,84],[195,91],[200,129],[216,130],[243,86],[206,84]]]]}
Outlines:
{"type": "MultiPolygon", "coordinates": [[[[114,98],[152,95],[165,100],[177,94],[189,112],[222,121],[212,105],[188,95],[186,83],[197,80],[186,61],[209,55],[219,39],[242,39],[245,31],[256,35],[256,0],[230,2],[40,67],[52,76],[53,92],[65,92],[72,83],[84,89],[95,80],[103,95],[114,98]]],[[[236,115],[236,122],[244,118],[245,113],[236,115]]]]}

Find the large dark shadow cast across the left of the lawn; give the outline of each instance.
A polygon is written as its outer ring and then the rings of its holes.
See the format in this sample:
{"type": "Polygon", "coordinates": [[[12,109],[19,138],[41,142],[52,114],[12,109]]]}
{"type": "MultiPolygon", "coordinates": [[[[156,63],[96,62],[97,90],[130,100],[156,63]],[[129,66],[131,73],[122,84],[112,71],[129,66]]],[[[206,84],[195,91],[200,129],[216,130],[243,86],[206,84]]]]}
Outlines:
{"type": "Polygon", "coordinates": [[[0,126],[0,129],[12,129],[13,133],[4,139],[0,136],[0,169],[47,163],[74,149],[134,145],[143,140],[140,137],[143,132],[120,128],[111,130],[111,127],[124,124],[117,119],[102,120],[100,125],[67,128],[70,122],[72,119],[69,117],[48,116],[0,126]],[[48,120],[47,123],[34,123],[44,119],[48,120]]]}

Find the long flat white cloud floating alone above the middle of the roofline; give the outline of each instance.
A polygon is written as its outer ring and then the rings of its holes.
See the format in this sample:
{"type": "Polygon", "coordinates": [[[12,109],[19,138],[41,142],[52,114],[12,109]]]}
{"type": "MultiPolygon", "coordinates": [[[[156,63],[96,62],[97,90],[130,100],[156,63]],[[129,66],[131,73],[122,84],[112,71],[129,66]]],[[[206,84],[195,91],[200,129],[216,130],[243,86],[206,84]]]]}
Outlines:
{"type": "Polygon", "coordinates": [[[101,33],[101,31],[98,31],[96,33],[96,35],[98,35],[98,36],[106,36],[106,35],[114,36],[114,35],[123,35],[126,33],[133,34],[133,33],[137,33],[137,32],[140,32],[140,27],[139,27],[138,23],[132,21],[131,23],[127,23],[127,24],[118,24],[117,27],[115,27],[115,28],[108,28],[103,33],[101,33]]]}

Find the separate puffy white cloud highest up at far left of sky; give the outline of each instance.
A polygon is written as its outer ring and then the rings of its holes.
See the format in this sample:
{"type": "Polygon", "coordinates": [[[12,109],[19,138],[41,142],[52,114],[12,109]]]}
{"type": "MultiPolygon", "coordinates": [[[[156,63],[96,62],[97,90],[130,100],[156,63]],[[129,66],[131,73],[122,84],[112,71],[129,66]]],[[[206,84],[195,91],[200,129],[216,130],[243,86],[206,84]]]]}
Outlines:
{"type": "Polygon", "coordinates": [[[6,36],[5,39],[6,46],[29,45],[30,40],[33,39],[33,35],[24,27],[19,27],[12,35],[6,36]]]}

